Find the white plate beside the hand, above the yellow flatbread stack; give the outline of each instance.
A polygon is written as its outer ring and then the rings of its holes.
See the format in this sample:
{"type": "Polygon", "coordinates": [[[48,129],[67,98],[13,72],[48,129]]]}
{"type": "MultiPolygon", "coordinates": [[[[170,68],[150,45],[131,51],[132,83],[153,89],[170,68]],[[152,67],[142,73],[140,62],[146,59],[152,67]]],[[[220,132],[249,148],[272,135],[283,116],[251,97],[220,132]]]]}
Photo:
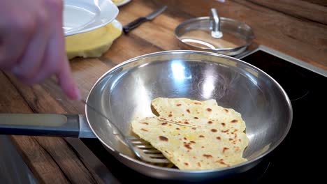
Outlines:
{"type": "Polygon", "coordinates": [[[109,0],[64,0],[64,33],[71,36],[98,29],[115,20],[117,6],[109,0]]]}

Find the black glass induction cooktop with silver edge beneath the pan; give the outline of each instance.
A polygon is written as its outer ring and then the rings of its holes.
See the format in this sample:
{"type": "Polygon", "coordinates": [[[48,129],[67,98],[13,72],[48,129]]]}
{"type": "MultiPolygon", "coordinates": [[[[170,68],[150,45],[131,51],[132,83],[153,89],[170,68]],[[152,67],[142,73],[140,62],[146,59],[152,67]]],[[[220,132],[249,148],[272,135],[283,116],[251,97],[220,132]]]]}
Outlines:
{"type": "MultiPolygon", "coordinates": [[[[240,57],[273,77],[286,91],[293,107],[291,130],[282,144],[277,146],[260,164],[253,169],[219,183],[280,183],[291,182],[295,178],[303,181],[320,181],[317,166],[325,162],[323,116],[327,105],[327,71],[310,66],[260,46],[240,57]],[[316,143],[321,143],[317,147],[316,143]]],[[[119,183],[142,181],[143,183],[167,183],[148,178],[129,169],[112,158],[96,139],[82,139],[83,143],[96,155],[119,183]]],[[[324,165],[323,165],[324,166],[324,165]]],[[[177,182],[178,183],[178,182],[177,182]]],[[[218,183],[210,181],[210,183],[218,183]]]]}

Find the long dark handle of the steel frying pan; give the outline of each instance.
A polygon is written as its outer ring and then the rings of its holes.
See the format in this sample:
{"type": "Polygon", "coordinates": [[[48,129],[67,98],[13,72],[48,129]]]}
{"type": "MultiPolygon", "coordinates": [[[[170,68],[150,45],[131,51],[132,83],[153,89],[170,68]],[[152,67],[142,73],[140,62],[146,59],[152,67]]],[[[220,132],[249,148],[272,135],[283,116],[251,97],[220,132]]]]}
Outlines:
{"type": "Polygon", "coordinates": [[[0,134],[95,137],[85,116],[67,114],[0,114],[0,134]]]}

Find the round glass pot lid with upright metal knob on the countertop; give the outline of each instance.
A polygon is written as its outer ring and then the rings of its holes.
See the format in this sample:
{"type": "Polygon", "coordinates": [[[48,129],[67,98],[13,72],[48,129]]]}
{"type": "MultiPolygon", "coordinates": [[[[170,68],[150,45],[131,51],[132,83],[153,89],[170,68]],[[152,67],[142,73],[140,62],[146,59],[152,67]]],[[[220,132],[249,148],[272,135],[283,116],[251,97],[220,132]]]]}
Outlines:
{"type": "Polygon", "coordinates": [[[187,49],[200,49],[235,56],[252,43],[254,34],[244,22],[219,17],[215,8],[210,17],[196,17],[180,23],[175,36],[187,49]]]}

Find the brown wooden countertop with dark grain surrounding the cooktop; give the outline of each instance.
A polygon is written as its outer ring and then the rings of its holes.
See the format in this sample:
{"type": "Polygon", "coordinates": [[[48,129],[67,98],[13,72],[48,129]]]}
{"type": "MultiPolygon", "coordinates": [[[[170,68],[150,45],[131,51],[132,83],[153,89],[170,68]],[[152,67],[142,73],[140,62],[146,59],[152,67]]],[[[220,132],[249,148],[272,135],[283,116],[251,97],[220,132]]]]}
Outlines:
{"type": "MultiPolygon", "coordinates": [[[[174,29],[191,17],[207,16],[217,8],[221,17],[230,17],[252,26],[254,45],[266,45],[297,59],[327,70],[326,1],[205,1],[133,0],[122,6],[117,17],[126,24],[150,13],[163,3],[168,9],[152,22],[146,22],[122,35],[100,59],[73,59],[73,75],[87,96],[96,79],[112,66],[150,52],[180,49],[174,29]]],[[[54,79],[24,86],[12,75],[0,72],[1,113],[84,114],[84,105],[61,93],[54,79]]],[[[59,137],[12,136],[25,162],[41,183],[101,183],[59,137]]]]}

